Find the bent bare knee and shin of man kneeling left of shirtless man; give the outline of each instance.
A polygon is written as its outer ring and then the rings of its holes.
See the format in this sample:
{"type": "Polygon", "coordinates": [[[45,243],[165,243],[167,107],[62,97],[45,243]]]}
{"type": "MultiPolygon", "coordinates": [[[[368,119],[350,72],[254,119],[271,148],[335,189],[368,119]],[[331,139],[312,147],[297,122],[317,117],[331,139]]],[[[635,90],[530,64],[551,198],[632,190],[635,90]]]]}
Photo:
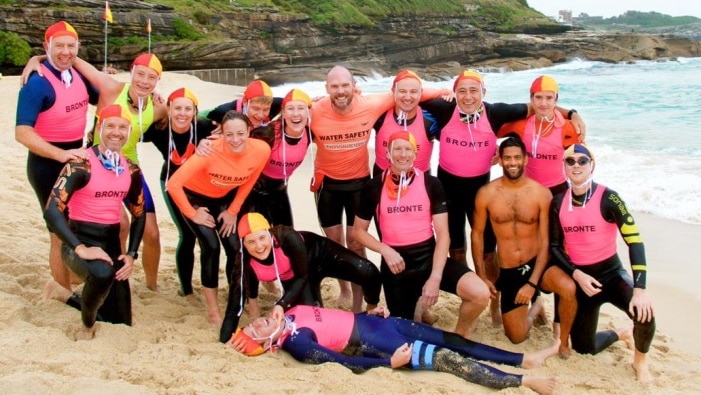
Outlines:
{"type": "Polygon", "coordinates": [[[474,272],[463,275],[458,281],[458,296],[462,299],[455,325],[455,333],[469,338],[477,318],[489,303],[489,288],[474,272]]]}

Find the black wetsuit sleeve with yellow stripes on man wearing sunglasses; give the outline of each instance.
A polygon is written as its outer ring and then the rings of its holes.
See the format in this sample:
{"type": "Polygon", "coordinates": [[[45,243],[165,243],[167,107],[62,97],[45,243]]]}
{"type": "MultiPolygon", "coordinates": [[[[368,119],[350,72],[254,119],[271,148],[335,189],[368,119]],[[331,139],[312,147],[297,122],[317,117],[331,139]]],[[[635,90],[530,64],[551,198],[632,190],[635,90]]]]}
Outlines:
{"type": "Polygon", "coordinates": [[[647,283],[647,263],[645,246],[633,215],[625,202],[615,191],[606,188],[601,197],[601,214],[607,222],[615,223],[623,241],[628,246],[628,257],[633,269],[635,288],[645,289],[647,283]]]}

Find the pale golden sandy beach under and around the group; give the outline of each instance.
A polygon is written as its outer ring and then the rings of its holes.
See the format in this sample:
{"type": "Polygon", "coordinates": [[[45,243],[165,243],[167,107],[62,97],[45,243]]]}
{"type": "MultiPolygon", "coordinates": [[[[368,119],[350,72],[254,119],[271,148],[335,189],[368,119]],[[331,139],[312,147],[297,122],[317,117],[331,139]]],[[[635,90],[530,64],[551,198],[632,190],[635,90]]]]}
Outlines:
{"type": "MultiPolygon", "coordinates": [[[[126,80],[127,74],[117,78],[126,80]]],[[[199,98],[200,108],[211,108],[240,95],[239,87],[203,82],[195,77],[165,73],[157,91],[167,96],[186,86],[199,98]]],[[[27,182],[26,149],[14,139],[19,77],[0,80],[0,96],[8,103],[0,108],[3,120],[0,153],[4,159],[0,185],[0,394],[218,394],[218,393],[337,393],[490,394],[497,391],[467,383],[444,373],[373,369],[353,374],[338,364],[305,365],[284,352],[257,358],[245,357],[218,342],[219,328],[207,322],[203,303],[191,303],[177,295],[174,253],[177,231],[158,190],[162,158],[150,145],[140,147],[141,163],[154,186],[156,211],[163,246],[159,286],[155,293],[145,286],[137,262],[132,276],[134,325],[98,323],[96,338],[76,342],[79,313],[42,298],[50,279],[48,234],[36,198],[27,182]]],[[[321,232],[313,197],[308,191],[311,154],[291,178],[290,195],[298,229],[321,232]]],[[[615,186],[613,186],[615,187],[615,186]]],[[[701,226],[636,214],[646,244],[649,267],[648,292],[657,316],[657,333],[649,353],[654,382],[641,384],[631,367],[632,351],[619,342],[597,356],[574,354],[568,360],[550,358],[534,370],[500,368],[529,375],[557,375],[559,394],[693,394],[701,392],[701,226]]],[[[627,262],[625,245],[619,252],[627,262]]],[[[379,264],[377,255],[370,259],[379,264]]],[[[223,265],[222,265],[223,267],[223,265]]],[[[225,284],[220,270],[220,284],[225,284]]],[[[199,264],[195,268],[200,288],[199,264]]],[[[227,288],[220,289],[225,307],[227,288]]],[[[324,283],[327,307],[335,307],[335,280],[324,283]]],[[[264,309],[276,295],[261,289],[264,309]]],[[[547,297],[552,317],[552,298],[547,297]]],[[[452,329],[457,297],[442,294],[433,311],[437,326],[452,329]]],[[[247,323],[245,314],[242,323],[247,323]]],[[[628,324],[620,311],[607,306],[601,328],[628,324]]],[[[553,342],[550,326],[536,327],[530,338],[511,344],[501,328],[493,328],[487,313],[480,317],[474,340],[511,351],[527,352],[553,342]]],[[[532,393],[525,388],[504,394],[532,393]]]]}

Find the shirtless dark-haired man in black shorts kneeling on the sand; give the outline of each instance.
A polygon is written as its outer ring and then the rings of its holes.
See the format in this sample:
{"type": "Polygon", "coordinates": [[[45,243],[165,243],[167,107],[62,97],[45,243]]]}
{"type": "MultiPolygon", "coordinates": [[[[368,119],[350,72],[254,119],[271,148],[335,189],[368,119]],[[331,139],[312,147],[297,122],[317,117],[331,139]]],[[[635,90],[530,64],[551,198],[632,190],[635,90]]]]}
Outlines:
{"type": "Polygon", "coordinates": [[[501,143],[499,164],[504,175],[477,192],[471,233],[472,258],[477,274],[487,283],[492,297],[496,297],[497,291],[502,293],[504,332],[513,343],[524,341],[533,322],[545,318],[539,287],[560,295],[560,336],[563,339],[560,354],[567,356],[570,354],[569,332],[576,311],[575,288],[556,281],[566,276],[562,269],[550,266],[546,271],[552,195],[546,187],[524,176],[527,163],[526,147],[519,138],[509,137],[501,143]],[[500,273],[496,284],[487,279],[482,253],[487,219],[497,239],[500,273]]]}

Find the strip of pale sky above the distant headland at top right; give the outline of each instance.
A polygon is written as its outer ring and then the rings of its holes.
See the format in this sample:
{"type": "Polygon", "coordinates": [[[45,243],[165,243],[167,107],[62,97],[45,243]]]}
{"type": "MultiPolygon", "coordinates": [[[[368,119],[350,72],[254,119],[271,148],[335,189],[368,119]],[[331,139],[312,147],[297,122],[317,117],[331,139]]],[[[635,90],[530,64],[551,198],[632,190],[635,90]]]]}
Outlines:
{"type": "Polygon", "coordinates": [[[572,16],[581,13],[610,18],[626,11],[659,12],[671,16],[690,15],[701,18],[698,0],[527,0],[528,5],[547,16],[557,16],[559,10],[572,10],[572,16]],[[686,3],[686,4],[682,4],[686,3]]]}

